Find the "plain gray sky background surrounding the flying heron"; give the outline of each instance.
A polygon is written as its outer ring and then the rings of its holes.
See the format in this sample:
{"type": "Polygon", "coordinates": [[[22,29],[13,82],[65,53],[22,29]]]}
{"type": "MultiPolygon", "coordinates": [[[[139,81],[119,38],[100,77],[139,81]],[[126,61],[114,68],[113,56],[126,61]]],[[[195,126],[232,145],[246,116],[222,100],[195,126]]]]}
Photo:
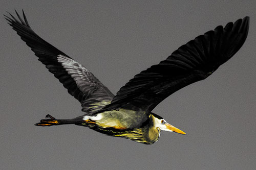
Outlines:
{"type": "Polygon", "coordinates": [[[6,1],[42,38],[88,67],[114,93],[196,36],[250,16],[241,50],[212,76],[154,112],[187,135],[144,145],[74,125],[35,127],[81,106],[1,16],[0,169],[253,169],[256,166],[255,1],[6,1]]]}

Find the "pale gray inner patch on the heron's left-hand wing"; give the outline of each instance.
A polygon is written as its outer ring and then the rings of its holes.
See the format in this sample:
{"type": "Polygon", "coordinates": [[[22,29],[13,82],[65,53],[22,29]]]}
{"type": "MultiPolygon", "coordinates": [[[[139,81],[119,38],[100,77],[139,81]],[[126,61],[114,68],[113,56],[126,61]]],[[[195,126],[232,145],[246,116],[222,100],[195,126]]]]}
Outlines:
{"type": "Polygon", "coordinates": [[[86,67],[63,55],[58,55],[57,60],[76,82],[77,87],[83,94],[78,97],[82,104],[82,111],[92,114],[110,104],[114,94],[86,67]]]}

